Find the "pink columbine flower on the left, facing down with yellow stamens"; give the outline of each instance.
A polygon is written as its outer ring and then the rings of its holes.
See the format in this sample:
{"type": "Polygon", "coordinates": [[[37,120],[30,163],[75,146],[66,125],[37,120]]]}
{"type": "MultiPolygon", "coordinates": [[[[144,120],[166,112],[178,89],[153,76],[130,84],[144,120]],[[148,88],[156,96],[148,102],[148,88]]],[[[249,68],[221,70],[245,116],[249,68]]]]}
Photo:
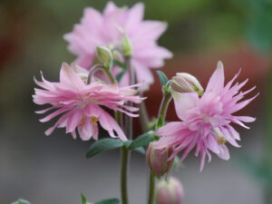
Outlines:
{"type": "Polygon", "coordinates": [[[126,136],[118,123],[102,109],[102,106],[124,112],[131,117],[138,116],[133,113],[138,111],[138,108],[125,105],[124,102],[139,103],[142,101],[142,98],[135,95],[137,91],[132,89],[139,85],[119,88],[117,84],[109,85],[101,82],[86,84],[86,75],[79,70],[75,71],[74,67],[63,63],[59,83],[46,81],[43,74],[42,82],[34,79],[34,82],[43,88],[34,89],[34,102],[38,105],[50,104],[52,106],[36,113],[54,110],[40,121],[50,121],[61,115],[53,127],[45,131],[45,134],[50,135],[57,127],[65,127],[66,132],[72,133],[74,139],[77,136],[77,129],[83,141],[91,138],[97,140],[99,122],[111,137],[119,137],[122,141],[126,141],[126,136]]]}

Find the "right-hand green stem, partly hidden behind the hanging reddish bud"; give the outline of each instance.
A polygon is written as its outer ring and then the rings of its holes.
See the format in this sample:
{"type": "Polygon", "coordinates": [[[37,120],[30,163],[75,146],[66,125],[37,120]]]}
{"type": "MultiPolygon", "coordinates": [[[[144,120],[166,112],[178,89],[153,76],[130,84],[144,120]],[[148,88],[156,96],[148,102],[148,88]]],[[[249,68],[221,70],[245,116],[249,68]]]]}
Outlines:
{"type": "MultiPolygon", "coordinates": [[[[159,114],[158,114],[158,119],[157,119],[157,124],[156,124],[156,130],[157,131],[164,123],[164,119],[166,116],[166,112],[168,109],[168,105],[170,103],[172,99],[171,93],[170,92],[164,92],[163,93],[163,98],[160,102],[160,110],[159,110],[159,114]],[[160,120],[161,123],[160,123],[160,120]]],[[[156,178],[155,176],[153,176],[153,174],[150,172],[150,190],[149,190],[149,201],[148,204],[153,204],[154,203],[154,199],[155,199],[155,182],[156,182],[156,178]]]]}

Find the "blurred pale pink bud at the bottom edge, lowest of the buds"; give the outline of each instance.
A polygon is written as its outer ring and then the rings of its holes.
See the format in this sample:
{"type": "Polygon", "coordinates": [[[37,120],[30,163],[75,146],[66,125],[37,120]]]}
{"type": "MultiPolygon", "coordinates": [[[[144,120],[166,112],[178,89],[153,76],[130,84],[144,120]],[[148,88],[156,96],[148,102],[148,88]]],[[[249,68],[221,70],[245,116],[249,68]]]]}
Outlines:
{"type": "Polygon", "coordinates": [[[184,197],[183,187],[179,180],[161,180],[156,188],[156,204],[181,204],[184,197]]]}

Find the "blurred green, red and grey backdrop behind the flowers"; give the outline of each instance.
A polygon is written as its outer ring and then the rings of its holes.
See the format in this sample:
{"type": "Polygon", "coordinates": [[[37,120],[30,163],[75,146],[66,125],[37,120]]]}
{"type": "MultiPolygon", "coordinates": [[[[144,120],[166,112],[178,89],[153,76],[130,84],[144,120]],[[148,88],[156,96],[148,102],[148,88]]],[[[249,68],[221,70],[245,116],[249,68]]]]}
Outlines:
{"type": "MultiPolygon", "coordinates": [[[[137,1],[114,1],[133,5],[137,1]]],[[[85,6],[102,10],[105,0],[0,1],[0,204],[18,198],[33,204],[81,203],[80,194],[94,202],[119,197],[119,151],[86,160],[92,141],[73,141],[63,130],[50,137],[50,122],[38,122],[32,102],[33,77],[58,80],[63,61],[74,56],[63,34],[80,21],[85,6]]],[[[272,203],[272,2],[270,0],[146,0],[146,19],[169,23],[160,44],[175,55],[163,67],[195,74],[206,85],[218,60],[227,80],[242,67],[238,80],[249,78],[260,95],[240,112],[257,117],[241,130],[242,148],[230,147],[231,160],[216,156],[199,173],[199,158],[190,156],[179,171],[184,204],[272,203]]],[[[156,76],[157,77],[157,76],[156,76]]],[[[156,78],[158,80],[158,77],[156,78]]],[[[204,86],[205,86],[204,85],[204,86]]],[[[147,107],[156,115],[160,83],[146,93],[147,107]]],[[[168,120],[175,119],[170,104],[168,120]]],[[[140,133],[137,126],[135,135],[140,133]]],[[[229,145],[228,145],[229,146],[229,145]]],[[[131,155],[131,203],[144,203],[148,170],[144,157],[131,155]]]]}

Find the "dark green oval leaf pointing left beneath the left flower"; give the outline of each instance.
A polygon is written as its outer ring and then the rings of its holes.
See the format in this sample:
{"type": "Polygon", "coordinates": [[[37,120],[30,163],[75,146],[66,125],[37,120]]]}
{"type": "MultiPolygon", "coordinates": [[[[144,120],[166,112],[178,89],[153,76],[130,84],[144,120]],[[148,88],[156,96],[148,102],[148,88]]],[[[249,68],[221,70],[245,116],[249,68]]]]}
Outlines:
{"type": "Polygon", "coordinates": [[[123,141],[113,138],[105,138],[92,143],[91,147],[87,151],[86,157],[91,158],[103,151],[111,151],[123,146],[123,141]]]}

